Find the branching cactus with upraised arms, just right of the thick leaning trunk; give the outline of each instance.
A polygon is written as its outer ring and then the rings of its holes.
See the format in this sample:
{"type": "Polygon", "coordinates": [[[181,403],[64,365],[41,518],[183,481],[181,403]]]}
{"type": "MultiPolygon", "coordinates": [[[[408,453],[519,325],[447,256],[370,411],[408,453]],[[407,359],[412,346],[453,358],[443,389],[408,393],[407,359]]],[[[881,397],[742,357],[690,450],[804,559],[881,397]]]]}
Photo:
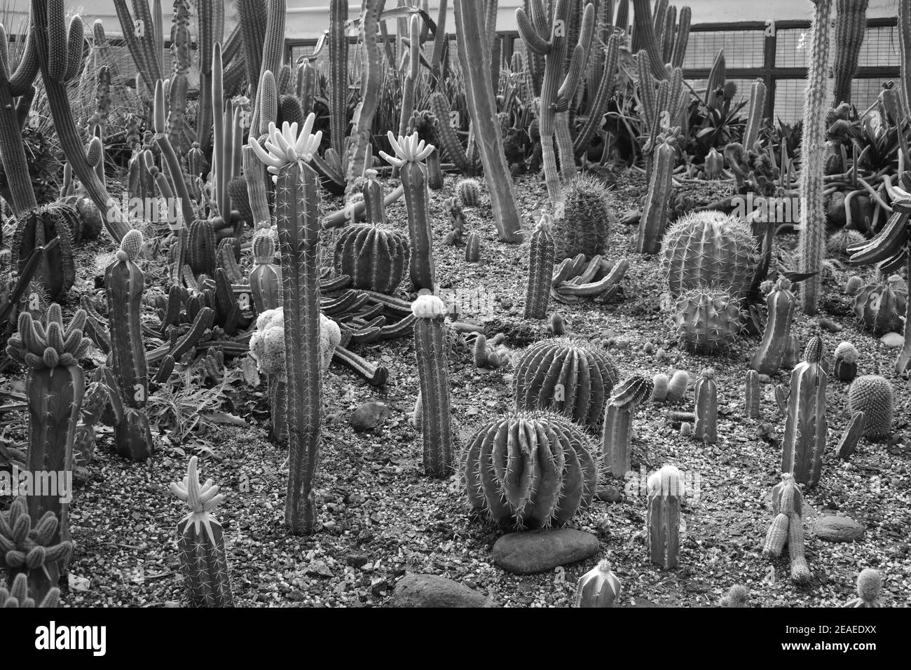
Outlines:
{"type": "Polygon", "coordinates": [[[541,84],[537,119],[544,158],[544,178],[550,202],[555,205],[560,198],[561,172],[558,171],[554,140],[556,138],[558,143],[562,174],[570,177],[575,172],[576,159],[568,131],[568,107],[576,95],[579,79],[588,63],[595,7],[591,4],[585,6],[578,28],[578,43],[572,46],[572,56],[564,76],[571,3],[569,0],[557,0],[552,16],[548,16],[543,0],[530,0],[529,5],[531,16],[519,7],[516,10],[516,21],[519,36],[527,51],[544,56],[544,80],[541,84]]]}

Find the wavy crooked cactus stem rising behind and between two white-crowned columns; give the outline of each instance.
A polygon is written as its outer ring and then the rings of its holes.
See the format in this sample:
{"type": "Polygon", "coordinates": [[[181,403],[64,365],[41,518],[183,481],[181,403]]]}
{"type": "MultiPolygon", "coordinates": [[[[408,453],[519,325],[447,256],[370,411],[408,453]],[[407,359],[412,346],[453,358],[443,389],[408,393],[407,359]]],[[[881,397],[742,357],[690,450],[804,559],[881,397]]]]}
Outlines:
{"type": "MultiPolygon", "coordinates": [[[[385,0],[365,0],[361,10],[361,103],[349,145],[346,175],[349,192],[354,188],[354,180],[363,174],[363,170],[372,167],[366,164],[366,159],[373,137],[374,115],[380,105],[380,89],[383,86],[383,55],[376,38],[380,32],[380,15],[383,14],[384,6],[385,0]]],[[[309,114],[310,109],[304,108],[303,113],[309,114]]]]}

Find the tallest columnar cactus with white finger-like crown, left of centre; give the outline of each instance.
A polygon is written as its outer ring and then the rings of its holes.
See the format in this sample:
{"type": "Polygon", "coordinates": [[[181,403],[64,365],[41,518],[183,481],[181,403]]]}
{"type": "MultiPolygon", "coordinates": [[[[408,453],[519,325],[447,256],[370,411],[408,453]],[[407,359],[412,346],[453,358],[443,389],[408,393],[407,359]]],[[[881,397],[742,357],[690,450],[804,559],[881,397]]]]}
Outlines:
{"type": "Polygon", "coordinates": [[[269,129],[263,149],[250,146],[277,177],[275,221],[281,250],[281,304],[284,312],[285,376],[288,384],[290,441],[285,522],[295,534],[316,529],[313,479],[320,449],[320,211],[319,178],[308,164],[320,146],[322,132],[311,134],[310,114],[301,134],[283,124],[269,129]]]}

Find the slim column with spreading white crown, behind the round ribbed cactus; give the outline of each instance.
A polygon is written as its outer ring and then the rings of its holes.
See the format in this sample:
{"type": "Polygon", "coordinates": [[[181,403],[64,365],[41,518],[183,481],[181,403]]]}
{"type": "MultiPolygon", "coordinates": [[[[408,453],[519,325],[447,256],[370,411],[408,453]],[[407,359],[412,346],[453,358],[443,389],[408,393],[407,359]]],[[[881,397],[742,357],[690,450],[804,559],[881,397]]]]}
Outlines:
{"type": "Polygon", "coordinates": [[[433,151],[434,145],[425,144],[417,133],[395,139],[389,131],[389,144],[394,156],[380,151],[380,156],[398,168],[404,187],[404,204],[408,210],[408,238],[411,241],[411,282],[415,291],[434,290],[434,235],[430,224],[427,196],[427,169],[422,163],[433,151]]]}

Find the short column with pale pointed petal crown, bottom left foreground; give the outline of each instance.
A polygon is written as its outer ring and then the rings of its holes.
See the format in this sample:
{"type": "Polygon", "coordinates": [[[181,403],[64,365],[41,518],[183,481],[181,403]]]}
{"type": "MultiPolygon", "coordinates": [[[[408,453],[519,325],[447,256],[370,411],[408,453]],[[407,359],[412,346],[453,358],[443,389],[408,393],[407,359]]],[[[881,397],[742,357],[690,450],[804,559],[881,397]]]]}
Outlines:
{"type": "Polygon", "coordinates": [[[200,484],[198,465],[198,457],[190,458],[187,476],[170,485],[171,493],[189,506],[177,524],[180,572],[193,607],[233,607],[224,533],[212,516],[224,494],[211,479],[200,484]]]}

